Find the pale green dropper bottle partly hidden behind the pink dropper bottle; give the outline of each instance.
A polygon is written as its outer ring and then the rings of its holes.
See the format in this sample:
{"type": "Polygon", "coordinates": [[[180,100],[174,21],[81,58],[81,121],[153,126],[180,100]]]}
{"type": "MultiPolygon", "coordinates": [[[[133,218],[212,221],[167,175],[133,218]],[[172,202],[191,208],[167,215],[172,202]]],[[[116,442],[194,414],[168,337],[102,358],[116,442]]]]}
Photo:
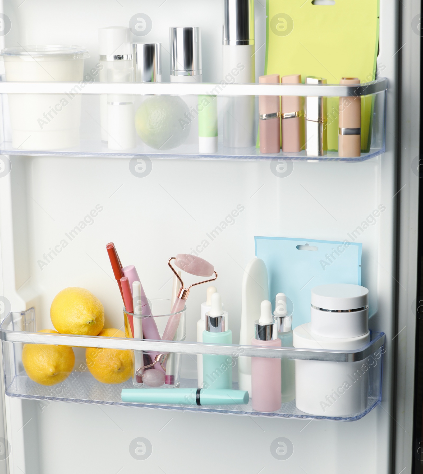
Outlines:
{"type": "MultiPolygon", "coordinates": [[[[294,347],[292,344],[292,313],[288,312],[287,295],[278,293],[273,313],[279,322],[278,337],[282,347],[294,347]]],[[[282,403],[295,399],[295,360],[287,357],[281,358],[281,391],[282,403]]]]}

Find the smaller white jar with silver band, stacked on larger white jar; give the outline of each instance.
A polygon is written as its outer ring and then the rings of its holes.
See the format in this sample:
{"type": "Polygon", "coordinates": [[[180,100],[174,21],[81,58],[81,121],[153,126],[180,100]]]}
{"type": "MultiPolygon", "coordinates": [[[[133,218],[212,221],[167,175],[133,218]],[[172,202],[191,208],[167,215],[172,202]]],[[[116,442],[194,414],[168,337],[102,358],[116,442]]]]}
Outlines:
{"type": "Polygon", "coordinates": [[[325,337],[358,337],[369,331],[369,290],[348,283],[311,289],[311,331],[325,337]]]}

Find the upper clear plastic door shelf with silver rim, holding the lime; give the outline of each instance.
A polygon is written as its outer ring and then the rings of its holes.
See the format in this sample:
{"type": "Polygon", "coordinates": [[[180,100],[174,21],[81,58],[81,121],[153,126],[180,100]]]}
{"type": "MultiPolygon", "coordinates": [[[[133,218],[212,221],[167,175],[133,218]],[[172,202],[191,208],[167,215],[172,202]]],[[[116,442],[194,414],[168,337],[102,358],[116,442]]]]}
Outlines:
{"type": "MultiPolygon", "coordinates": [[[[359,86],[225,81],[219,84],[0,82],[3,121],[0,153],[364,161],[385,151],[386,92],[385,78],[359,86]],[[307,156],[304,150],[261,154],[258,97],[265,95],[303,98],[302,110],[298,111],[303,129],[304,98],[327,98],[327,154],[307,156]],[[245,147],[234,148],[227,146],[227,142],[225,146],[225,117],[232,117],[230,110],[235,113],[237,101],[248,96],[255,99],[249,112],[253,130],[246,135],[245,147]],[[361,97],[361,155],[356,157],[340,157],[337,151],[339,97],[346,96],[361,97]],[[214,97],[217,100],[217,152],[199,153],[198,112],[202,110],[203,100],[214,100],[214,97]],[[105,117],[114,117],[114,120],[105,120],[105,117]]],[[[233,120],[236,121],[236,117],[233,120]]],[[[304,130],[302,135],[304,146],[304,130]]]]}

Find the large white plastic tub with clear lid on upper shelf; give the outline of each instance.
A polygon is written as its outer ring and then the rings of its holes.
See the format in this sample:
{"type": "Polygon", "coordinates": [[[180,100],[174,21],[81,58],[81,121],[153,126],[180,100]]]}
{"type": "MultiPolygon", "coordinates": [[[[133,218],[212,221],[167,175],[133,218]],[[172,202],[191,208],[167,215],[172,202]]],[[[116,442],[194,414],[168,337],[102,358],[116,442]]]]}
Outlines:
{"type": "MultiPolygon", "coordinates": [[[[2,49],[8,82],[81,82],[81,46],[19,46],[2,49]]],[[[81,91],[66,94],[8,94],[12,146],[19,150],[53,150],[79,144],[81,91]]]]}

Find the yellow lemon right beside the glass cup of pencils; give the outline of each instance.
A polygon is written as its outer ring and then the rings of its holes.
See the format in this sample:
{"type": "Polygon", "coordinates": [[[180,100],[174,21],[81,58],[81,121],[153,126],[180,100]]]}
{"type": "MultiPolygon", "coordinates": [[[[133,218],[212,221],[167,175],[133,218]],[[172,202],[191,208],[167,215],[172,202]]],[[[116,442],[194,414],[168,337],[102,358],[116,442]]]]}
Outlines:
{"type": "MultiPolygon", "coordinates": [[[[103,329],[99,336],[125,337],[119,329],[103,329]]],[[[85,358],[94,378],[102,383],[126,382],[132,375],[132,351],[87,347],[85,358]]]]}

